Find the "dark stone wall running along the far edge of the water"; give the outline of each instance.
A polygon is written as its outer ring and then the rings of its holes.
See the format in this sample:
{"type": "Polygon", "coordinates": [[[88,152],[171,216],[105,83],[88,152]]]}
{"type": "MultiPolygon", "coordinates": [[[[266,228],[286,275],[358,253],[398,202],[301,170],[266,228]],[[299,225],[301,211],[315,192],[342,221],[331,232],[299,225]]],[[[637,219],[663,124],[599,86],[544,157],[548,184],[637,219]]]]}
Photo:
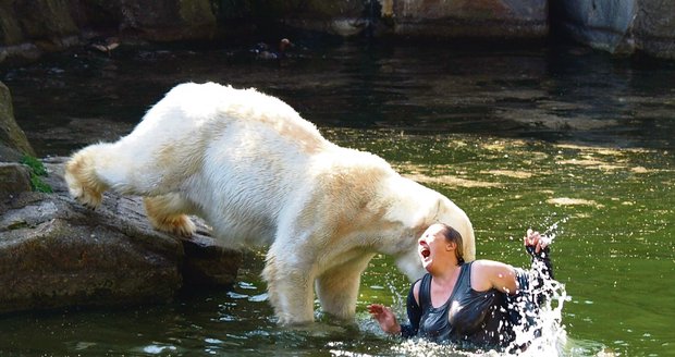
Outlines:
{"type": "Polygon", "coordinates": [[[492,40],[544,39],[556,27],[612,53],[675,58],[675,2],[664,0],[5,0],[0,24],[0,62],[96,36],[209,40],[280,25],[339,36],[492,40]]]}

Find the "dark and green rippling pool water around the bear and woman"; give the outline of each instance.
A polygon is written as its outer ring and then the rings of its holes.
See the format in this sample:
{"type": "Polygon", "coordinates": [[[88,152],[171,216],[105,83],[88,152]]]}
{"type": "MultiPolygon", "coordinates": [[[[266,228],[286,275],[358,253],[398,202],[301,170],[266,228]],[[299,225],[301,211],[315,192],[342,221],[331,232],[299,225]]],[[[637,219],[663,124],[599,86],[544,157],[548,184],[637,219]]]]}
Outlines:
{"type": "MultiPolygon", "coordinates": [[[[478,258],[527,267],[525,231],[553,229],[565,294],[549,350],[675,355],[675,65],[574,47],[297,42],[281,64],[225,46],[122,47],[3,67],[0,79],[40,157],[114,140],[181,82],[255,86],[451,197],[478,258]]],[[[274,324],[262,260],[247,253],[232,291],[167,305],[0,317],[0,355],[466,355],[378,331],[366,306],[404,316],[409,286],[386,257],[363,278],[353,325],[300,331],[274,324]]]]}

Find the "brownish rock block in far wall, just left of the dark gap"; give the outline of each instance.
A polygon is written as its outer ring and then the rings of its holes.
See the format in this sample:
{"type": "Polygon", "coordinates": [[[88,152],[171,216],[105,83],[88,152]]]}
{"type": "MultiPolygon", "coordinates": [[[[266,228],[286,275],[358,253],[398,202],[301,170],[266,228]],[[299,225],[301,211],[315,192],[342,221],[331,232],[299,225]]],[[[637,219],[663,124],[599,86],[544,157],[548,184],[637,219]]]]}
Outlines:
{"type": "Polygon", "coordinates": [[[426,38],[542,39],[549,34],[541,0],[380,0],[396,35],[426,38]]]}

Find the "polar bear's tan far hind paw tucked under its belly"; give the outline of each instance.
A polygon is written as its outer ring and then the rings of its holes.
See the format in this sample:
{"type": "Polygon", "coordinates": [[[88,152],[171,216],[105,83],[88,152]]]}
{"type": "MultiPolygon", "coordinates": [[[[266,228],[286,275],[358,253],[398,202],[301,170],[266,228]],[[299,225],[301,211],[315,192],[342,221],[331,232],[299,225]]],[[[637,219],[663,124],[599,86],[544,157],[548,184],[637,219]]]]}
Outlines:
{"type": "Polygon", "coordinates": [[[197,227],[185,214],[192,205],[179,194],[144,197],[145,210],[152,226],[162,232],[191,236],[197,227]]]}

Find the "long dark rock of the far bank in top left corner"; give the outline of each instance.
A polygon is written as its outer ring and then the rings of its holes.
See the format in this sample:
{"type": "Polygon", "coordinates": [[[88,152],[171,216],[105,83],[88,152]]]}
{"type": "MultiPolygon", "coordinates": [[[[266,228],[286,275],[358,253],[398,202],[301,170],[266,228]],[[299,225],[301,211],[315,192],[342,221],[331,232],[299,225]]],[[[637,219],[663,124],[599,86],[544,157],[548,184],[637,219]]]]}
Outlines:
{"type": "Polygon", "coordinates": [[[204,40],[218,27],[209,0],[2,1],[0,24],[0,62],[34,60],[96,36],[204,40]]]}

